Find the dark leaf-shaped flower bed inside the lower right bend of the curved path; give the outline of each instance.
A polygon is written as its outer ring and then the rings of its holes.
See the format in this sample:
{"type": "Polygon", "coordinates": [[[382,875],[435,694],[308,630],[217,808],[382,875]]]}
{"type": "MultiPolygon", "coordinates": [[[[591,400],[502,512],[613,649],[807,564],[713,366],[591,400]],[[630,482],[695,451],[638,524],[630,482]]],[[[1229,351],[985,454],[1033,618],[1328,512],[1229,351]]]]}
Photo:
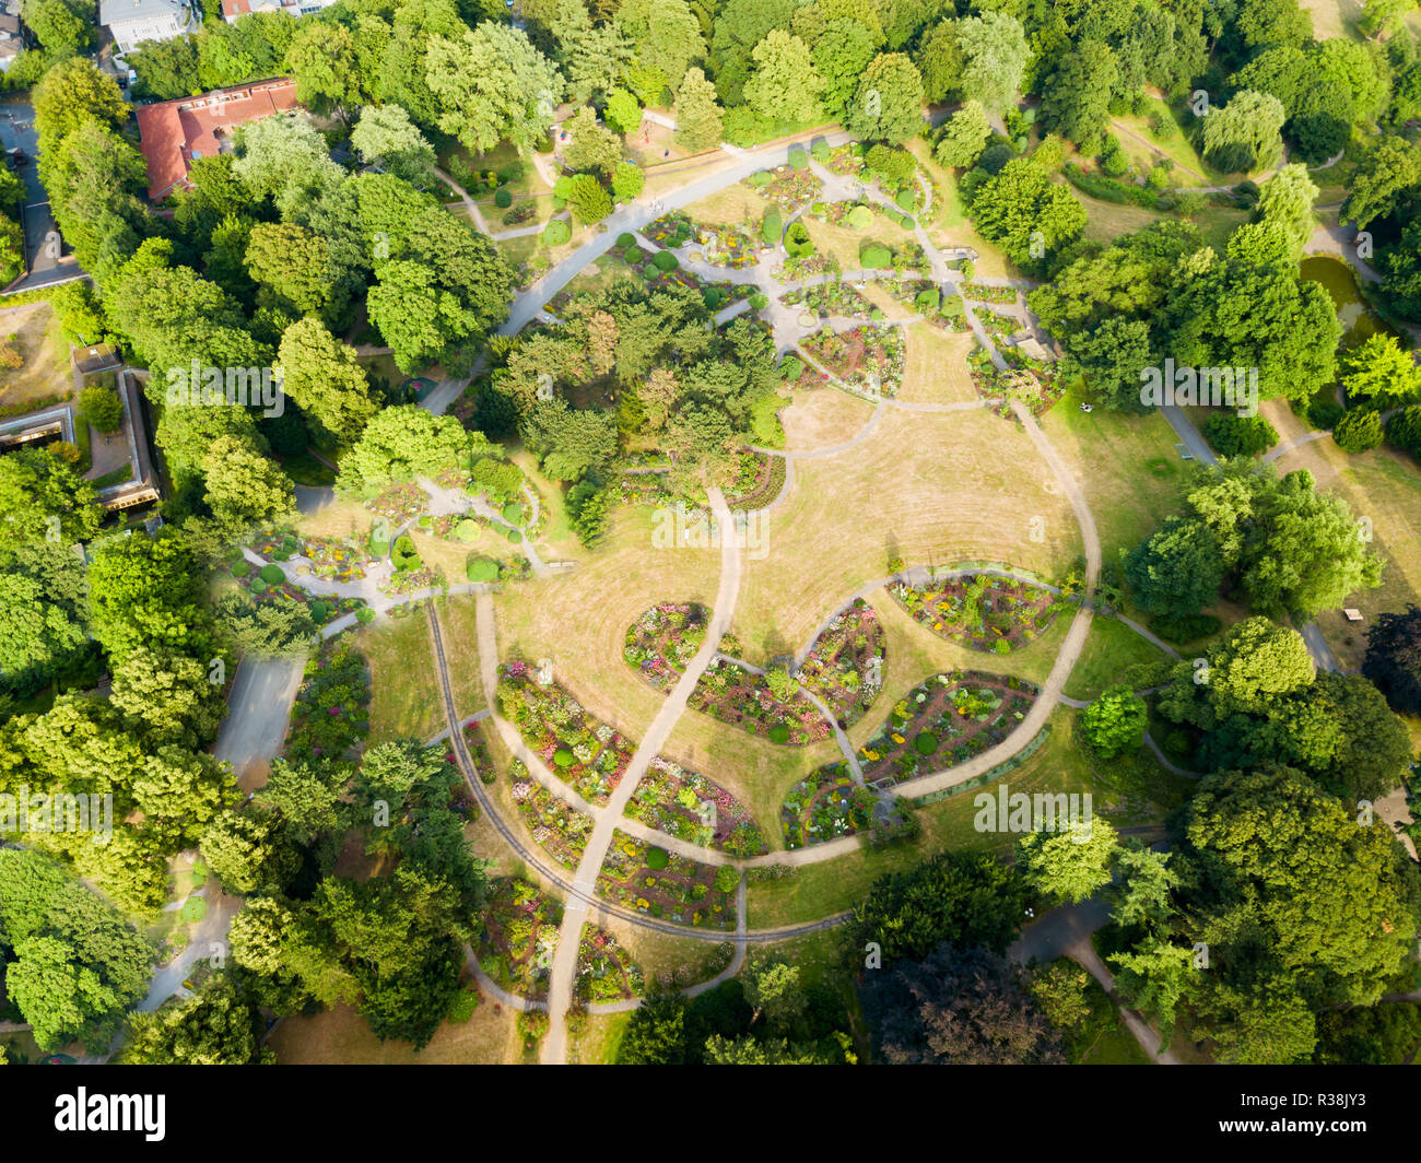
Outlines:
{"type": "Polygon", "coordinates": [[[1036,701],[1025,678],[951,671],[918,684],[858,749],[864,781],[890,788],[953,768],[1002,742],[1036,701]]]}

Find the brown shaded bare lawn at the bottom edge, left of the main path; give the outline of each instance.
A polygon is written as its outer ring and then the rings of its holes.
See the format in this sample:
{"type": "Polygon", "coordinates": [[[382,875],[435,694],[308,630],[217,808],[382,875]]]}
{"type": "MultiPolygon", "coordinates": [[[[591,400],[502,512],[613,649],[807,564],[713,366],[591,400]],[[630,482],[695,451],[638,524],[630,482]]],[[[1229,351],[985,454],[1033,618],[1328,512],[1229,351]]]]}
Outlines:
{"type": "Polygon", "coordinates": [[[283,1018],[267,1045],[277,1062],[306,1063],[504,1063],[523,1058],[513,1009],[485,997],[466,1022],[443,1022],[422,1051],[409,1042],[381,1042],[365,1018],[348,1005],[335,1005],[311,1018],[283,1018]]]}

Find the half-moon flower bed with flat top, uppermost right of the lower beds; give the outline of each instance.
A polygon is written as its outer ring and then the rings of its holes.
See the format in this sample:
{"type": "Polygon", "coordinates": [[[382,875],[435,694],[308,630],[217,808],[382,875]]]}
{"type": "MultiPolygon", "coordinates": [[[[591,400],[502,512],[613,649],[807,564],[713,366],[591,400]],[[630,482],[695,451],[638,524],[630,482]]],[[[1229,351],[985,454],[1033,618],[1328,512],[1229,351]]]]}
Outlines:
{"type": "Polygon", "coordinates": [[[934,634],[995,654],[1039,638],[1064,606],[1044,586],[989,573],[945,577],[926,586],[894,582],[888,593],[934,634]]]}

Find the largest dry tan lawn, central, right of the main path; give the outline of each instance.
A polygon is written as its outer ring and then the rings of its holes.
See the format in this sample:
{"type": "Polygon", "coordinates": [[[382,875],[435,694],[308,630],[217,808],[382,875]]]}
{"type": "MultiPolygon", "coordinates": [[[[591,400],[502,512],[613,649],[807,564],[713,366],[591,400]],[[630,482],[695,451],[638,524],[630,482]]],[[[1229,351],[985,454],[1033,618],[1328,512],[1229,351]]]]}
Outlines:
{"type": "Polygon", "coordinates": [[[793,491],[745,554],[730,628],[752,657],[777,653],[774,641],[803,643],[899,556],[1059,576],[1081,542],[1049,479],[1026,435],[993,415],[888,408],[863,444],[796,462],[793,491]]]}

